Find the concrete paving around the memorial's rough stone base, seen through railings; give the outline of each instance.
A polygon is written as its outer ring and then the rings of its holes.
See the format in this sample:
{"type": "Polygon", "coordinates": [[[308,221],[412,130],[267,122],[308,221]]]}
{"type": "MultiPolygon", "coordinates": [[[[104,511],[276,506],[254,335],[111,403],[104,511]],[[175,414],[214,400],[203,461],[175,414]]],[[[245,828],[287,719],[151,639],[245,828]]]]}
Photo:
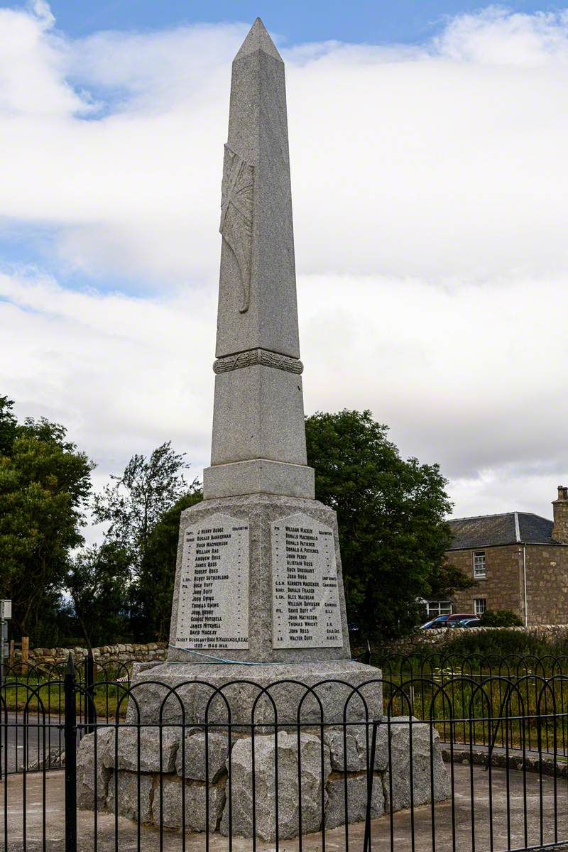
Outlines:
{"type": "MultiPolygon", "coordinates": [[[[526,792],[524,796],[523,774],[516,770],[508,773],[504,769],[491,770],[491,813],[489,796],[489,773],[479,766],[473,766],[473,775],[469,765],[454,765],[454,814],[452,819],[451,802],[435,806],[433,812],[429,806],[416,808],[413,820],[410,812],[404,811],[393,816],[392,825],[389,816],[371,823],[371,849],[373,852],[410,852],[411,832],[414,821],[416,852],[429,852],[433,849],[435,834],[436,852],[493,852],[502,849],[523,849],[525,845],[538,847],[543,843],[554,844],[568,840],[568,785],[565,779],[557,780],[554,815],[554,778],[538,774],[526,774],[526,792]],[[509,791],[509,792],[508,792],[509,791]],[[526,800],[526,843],[525,843],[525,800],[526,800]],[[474,809],[472,810],[472,801],[474,809]],[[541,818],[542,817],[542,818],[541,818]],[[541,833],[542,825],[542,833],[541,833]],[[393,846],[391,847],[391,832],[393,846]]],[[[65,849],[65,812],[64,812],[64,774],[61,771],[45,774],[45,805],[43,806],[43,775],[13,775],[8,784],[0,782],[0,849],[5,852],[64,852],[65,849]],[[26,797],[26,834],[22,820],[22,802],[26,797]],[[8,836],[4,835],[4,813],[8,822],[8,836]],[[45,847],[43,846],[45,837],[45,847]]],[[[77,819],[77,849],[79,852],[205,852],[204,834],[187,834],[185,844],[181,832],[164,832],[160,844],[158,829],[139,826],[129,820],[118,819],[115,826],[113,815],[100,814],[97,817],[95,836],[95,815],[90,811],[79,811],[77,819]],[[118,836],[116,829],[118,828],[118,836]],[[118,840],[118,842],[117,842],[118,840]]],[[[322,849],[321,833],[303,838],[302,849],[305,852],[319,852],[322,849]]],[[[352,825],[346,838],[345,828],[337,828],[325,834],[325,848],[328,852],[343,852],[347,849],[361,850],[364,845],[364,825],[352,825]],[[348,840],[348,844],[346,843],[348,840]]],[[[550,848],[550,847],[549,847],[550,848]]],[[[553,847],[554,848],[554,847],[553,847]]],[[[210,835],[210,852],[229,852],[228,838],[210,835]]],[[[234,852],[249,852],[250,840],[232,839],[234,852]]],[[[257,843],[258,852],[273,852],[274,843],[257,843]]],[[[281,852],[295,852],[299,849],[297,840],[281,841],[281,852]]]]}

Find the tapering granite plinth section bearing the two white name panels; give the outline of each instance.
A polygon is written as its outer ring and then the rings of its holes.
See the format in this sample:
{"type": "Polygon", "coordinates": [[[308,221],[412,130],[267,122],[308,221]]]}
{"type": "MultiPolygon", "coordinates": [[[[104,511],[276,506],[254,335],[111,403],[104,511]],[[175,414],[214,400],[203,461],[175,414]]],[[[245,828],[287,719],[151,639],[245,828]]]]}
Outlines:
{"type": "Polygon", "coordinates": [[[182,516],[178,566],[169,660],[349,659],[336,515],[316,500],[204,500],[182,516]]]}

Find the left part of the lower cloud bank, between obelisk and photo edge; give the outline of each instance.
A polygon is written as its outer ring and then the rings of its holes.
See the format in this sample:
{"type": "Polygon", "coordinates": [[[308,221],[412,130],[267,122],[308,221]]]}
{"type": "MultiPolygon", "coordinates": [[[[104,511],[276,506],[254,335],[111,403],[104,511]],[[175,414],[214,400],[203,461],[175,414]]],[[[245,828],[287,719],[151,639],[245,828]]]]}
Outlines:
{"type": "Polygon", "coordinates": [[[199,362],[214,346],[211,294],[161,302],[3,275],[0,298],[9,300],[3,347],[17,353],[3,388],[19,412],[65,423],[103,473],[169,438],[203,463],[211,400],[199,362]]]}

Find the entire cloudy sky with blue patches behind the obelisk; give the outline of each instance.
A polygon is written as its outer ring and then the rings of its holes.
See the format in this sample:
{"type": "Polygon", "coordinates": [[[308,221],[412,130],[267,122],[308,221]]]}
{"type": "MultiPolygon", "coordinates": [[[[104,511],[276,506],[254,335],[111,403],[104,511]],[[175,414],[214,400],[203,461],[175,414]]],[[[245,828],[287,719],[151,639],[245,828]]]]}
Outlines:
{"type": "Polygon", "coordinates": [[[551,516],[568,9],[307,5],[0,6],[0,394],[66,424],[97,486],[168,439],[201,474],[231,60],[260,11],[287,67],[307,413],[370,408],[441,464],[455,515],[551,516]]]}

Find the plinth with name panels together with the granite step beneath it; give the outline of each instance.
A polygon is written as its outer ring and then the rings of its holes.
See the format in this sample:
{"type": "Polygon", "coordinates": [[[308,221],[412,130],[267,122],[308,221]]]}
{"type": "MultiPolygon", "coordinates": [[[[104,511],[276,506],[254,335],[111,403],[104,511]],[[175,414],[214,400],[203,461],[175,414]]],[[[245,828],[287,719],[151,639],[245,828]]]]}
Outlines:
{"type": "Polygon", "coordinates": [[[186,509],[171,624],[168,661],[135,667],[136,689],[159,682],[141,692],[143,722],[227,722],[227,705],[244,725],[341,722],[346,706],[350,721],[382,716],[381,672],[350,658],[336,513],[317,500],[186,509]],[[165,705],[161,684],[176,692],[165,705]],[[215,690],[226,700],[209,703],[215,690]],[[272,700],[255,705],[265,690],[272,700]]]}

